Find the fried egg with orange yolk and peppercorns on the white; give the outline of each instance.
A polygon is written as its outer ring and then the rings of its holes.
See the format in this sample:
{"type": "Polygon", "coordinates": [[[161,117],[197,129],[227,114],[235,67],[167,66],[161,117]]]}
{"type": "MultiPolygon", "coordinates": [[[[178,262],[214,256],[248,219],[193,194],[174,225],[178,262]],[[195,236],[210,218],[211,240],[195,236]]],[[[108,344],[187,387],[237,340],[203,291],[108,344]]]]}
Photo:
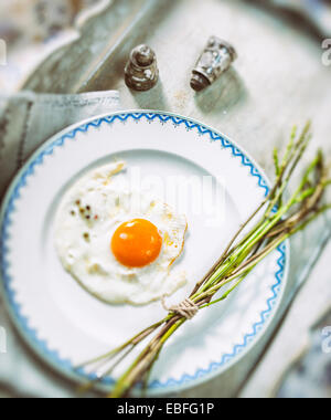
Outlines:
{"type": "Polygon", "coordinates": [[[182,287],[172,273],[186,218],[128,185],[126,165],[114,162],[81,178],[56,216],[55,245],[64,269],[94,296],[111,304],[147,304],[182,287]]]}

